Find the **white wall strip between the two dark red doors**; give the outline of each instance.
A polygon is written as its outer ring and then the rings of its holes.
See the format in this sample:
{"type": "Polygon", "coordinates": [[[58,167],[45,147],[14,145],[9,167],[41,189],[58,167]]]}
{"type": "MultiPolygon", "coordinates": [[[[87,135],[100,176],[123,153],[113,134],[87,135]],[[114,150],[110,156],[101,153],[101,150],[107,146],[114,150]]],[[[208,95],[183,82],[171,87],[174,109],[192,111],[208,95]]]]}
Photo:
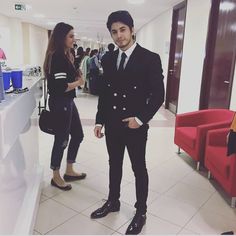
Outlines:
{"type": "Polygon", "coordinates": [[[199,109],[210,0],[188,0],[177,113],[199,109]]]}

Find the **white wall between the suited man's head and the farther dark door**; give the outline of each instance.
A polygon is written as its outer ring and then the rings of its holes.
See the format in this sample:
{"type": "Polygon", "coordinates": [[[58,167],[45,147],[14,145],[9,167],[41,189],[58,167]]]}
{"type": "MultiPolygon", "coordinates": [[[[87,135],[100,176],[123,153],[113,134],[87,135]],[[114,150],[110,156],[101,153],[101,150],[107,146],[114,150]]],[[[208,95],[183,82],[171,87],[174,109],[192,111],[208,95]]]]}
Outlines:
{"type": "Polygon", "coordinates": [[[165,84],[169,60],[169,44],[171,33],[172,9],[162,13],[152,22],[137,32],[137,42],[160,55],[165,76],[165,84]]]}

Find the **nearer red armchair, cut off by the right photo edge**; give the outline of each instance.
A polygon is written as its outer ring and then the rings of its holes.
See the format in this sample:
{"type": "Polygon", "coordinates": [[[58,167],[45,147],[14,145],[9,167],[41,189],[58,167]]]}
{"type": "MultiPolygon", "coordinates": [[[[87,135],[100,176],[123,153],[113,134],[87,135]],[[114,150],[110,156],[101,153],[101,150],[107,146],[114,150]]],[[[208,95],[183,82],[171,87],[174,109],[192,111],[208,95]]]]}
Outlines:
{"type": "Polygon", "coordinates": [[[207,134],[205,167],[208,178],[212,175],[232,197],[231,206],[236,203],[236,154],[226,156],[226,136],[229,128],[211,130],[207,134]]]}

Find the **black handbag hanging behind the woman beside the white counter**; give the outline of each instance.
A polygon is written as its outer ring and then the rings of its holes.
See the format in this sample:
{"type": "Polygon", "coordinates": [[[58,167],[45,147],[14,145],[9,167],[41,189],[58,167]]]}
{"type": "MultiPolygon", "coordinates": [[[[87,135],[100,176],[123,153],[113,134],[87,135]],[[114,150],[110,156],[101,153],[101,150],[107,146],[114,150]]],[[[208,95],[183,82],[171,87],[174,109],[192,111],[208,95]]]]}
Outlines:
{"type": "Polygon", "coordinates": [[[39,116],[39,128],[47,134],[55,135],[55,119],[51,111],[47,110],[47,97],[45,99],[45,108],[41,111],[39,116]]]}

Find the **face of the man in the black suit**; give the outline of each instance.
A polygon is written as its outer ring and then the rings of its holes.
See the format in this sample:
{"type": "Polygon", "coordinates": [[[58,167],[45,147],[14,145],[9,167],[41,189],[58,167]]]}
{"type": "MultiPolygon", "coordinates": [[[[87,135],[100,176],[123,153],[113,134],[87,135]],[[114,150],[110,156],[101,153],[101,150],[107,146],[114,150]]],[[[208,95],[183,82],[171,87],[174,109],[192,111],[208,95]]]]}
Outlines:
{"type": "Polygon", "coordinates": [[[133,45],[133,31],[133,28],[130,30],[128,25],[121,22],[115,22],[111,25],[111,37],[122,51],[127,50],[133,45]]]}

